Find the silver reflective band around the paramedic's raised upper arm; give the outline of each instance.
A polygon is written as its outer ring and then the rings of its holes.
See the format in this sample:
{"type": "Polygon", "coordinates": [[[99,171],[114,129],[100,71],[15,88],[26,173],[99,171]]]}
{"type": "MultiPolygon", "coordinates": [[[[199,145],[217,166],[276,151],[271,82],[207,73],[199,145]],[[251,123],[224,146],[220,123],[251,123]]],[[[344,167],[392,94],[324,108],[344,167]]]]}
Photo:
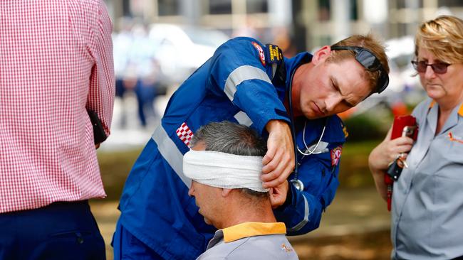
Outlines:
{"type": "Polygon", "coordinates": [[[245,80],[264,80],[271,84],[269,75],[258,67],[252,67],[249,65],[236,67],[236,69],[228,76],[224,87],[224,92],[231,101],[234,99],[236,86],[240,85],[241,82],[244,82],[245,80]]]}

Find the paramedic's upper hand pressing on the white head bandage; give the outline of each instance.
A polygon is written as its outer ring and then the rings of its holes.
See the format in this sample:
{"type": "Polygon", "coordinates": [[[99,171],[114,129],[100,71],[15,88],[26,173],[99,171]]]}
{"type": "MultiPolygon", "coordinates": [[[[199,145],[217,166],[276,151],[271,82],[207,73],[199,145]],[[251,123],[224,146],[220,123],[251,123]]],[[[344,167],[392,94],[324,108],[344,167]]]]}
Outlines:
{"type": "Polygon", "coordinates": [[[294,146],[291,130],[286,121],[271,120],[266,124],[269,132],[267,153],[262,159],[264,188],[274,188],[286,181],[294,168],[294,146]]]}

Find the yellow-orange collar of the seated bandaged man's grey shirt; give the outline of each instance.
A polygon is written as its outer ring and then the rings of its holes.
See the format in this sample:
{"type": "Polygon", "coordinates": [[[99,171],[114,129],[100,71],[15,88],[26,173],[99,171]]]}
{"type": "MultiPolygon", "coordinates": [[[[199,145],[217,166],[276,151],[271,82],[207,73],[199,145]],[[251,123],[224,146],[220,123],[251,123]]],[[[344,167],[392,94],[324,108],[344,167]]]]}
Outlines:
{"type": "Polygon", "coordinates": [[[224,242],[234,242],[244,237],[255,237],[266,234],[286,234],[283,222],[246,222],[222,229],[224,242]]]}

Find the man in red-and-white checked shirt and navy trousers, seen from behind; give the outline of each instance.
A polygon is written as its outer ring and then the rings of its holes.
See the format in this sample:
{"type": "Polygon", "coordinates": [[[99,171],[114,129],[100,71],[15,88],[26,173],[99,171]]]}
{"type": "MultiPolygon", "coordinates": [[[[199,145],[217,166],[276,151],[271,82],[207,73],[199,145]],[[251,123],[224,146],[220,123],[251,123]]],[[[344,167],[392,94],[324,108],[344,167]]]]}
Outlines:
{"type": "Polygon", "coordinates": [[[106,196],[88,111],[108,136],[115,92],[105,4],[0,9],[0,259],[105,259],[88,205],[106,196]]]}

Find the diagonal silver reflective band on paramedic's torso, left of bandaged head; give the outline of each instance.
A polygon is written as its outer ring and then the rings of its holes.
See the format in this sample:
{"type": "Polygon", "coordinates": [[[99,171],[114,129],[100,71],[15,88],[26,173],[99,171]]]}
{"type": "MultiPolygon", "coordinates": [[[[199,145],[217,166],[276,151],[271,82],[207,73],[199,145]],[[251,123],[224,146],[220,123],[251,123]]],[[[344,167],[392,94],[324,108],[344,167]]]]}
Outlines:
{"type": "Polygon", "coordinates": [[[165,161],[169,163],[170,167],[175,170],[175,173],[177,173],[183,183],[189,188],[192,185],[192,180],[183,175],[183,153],[177,148],[169,135],[167,135],[162,124],[157,126],[151,138],[157,144],[157,149],[162,157],[165,158],[165,161]]]}

